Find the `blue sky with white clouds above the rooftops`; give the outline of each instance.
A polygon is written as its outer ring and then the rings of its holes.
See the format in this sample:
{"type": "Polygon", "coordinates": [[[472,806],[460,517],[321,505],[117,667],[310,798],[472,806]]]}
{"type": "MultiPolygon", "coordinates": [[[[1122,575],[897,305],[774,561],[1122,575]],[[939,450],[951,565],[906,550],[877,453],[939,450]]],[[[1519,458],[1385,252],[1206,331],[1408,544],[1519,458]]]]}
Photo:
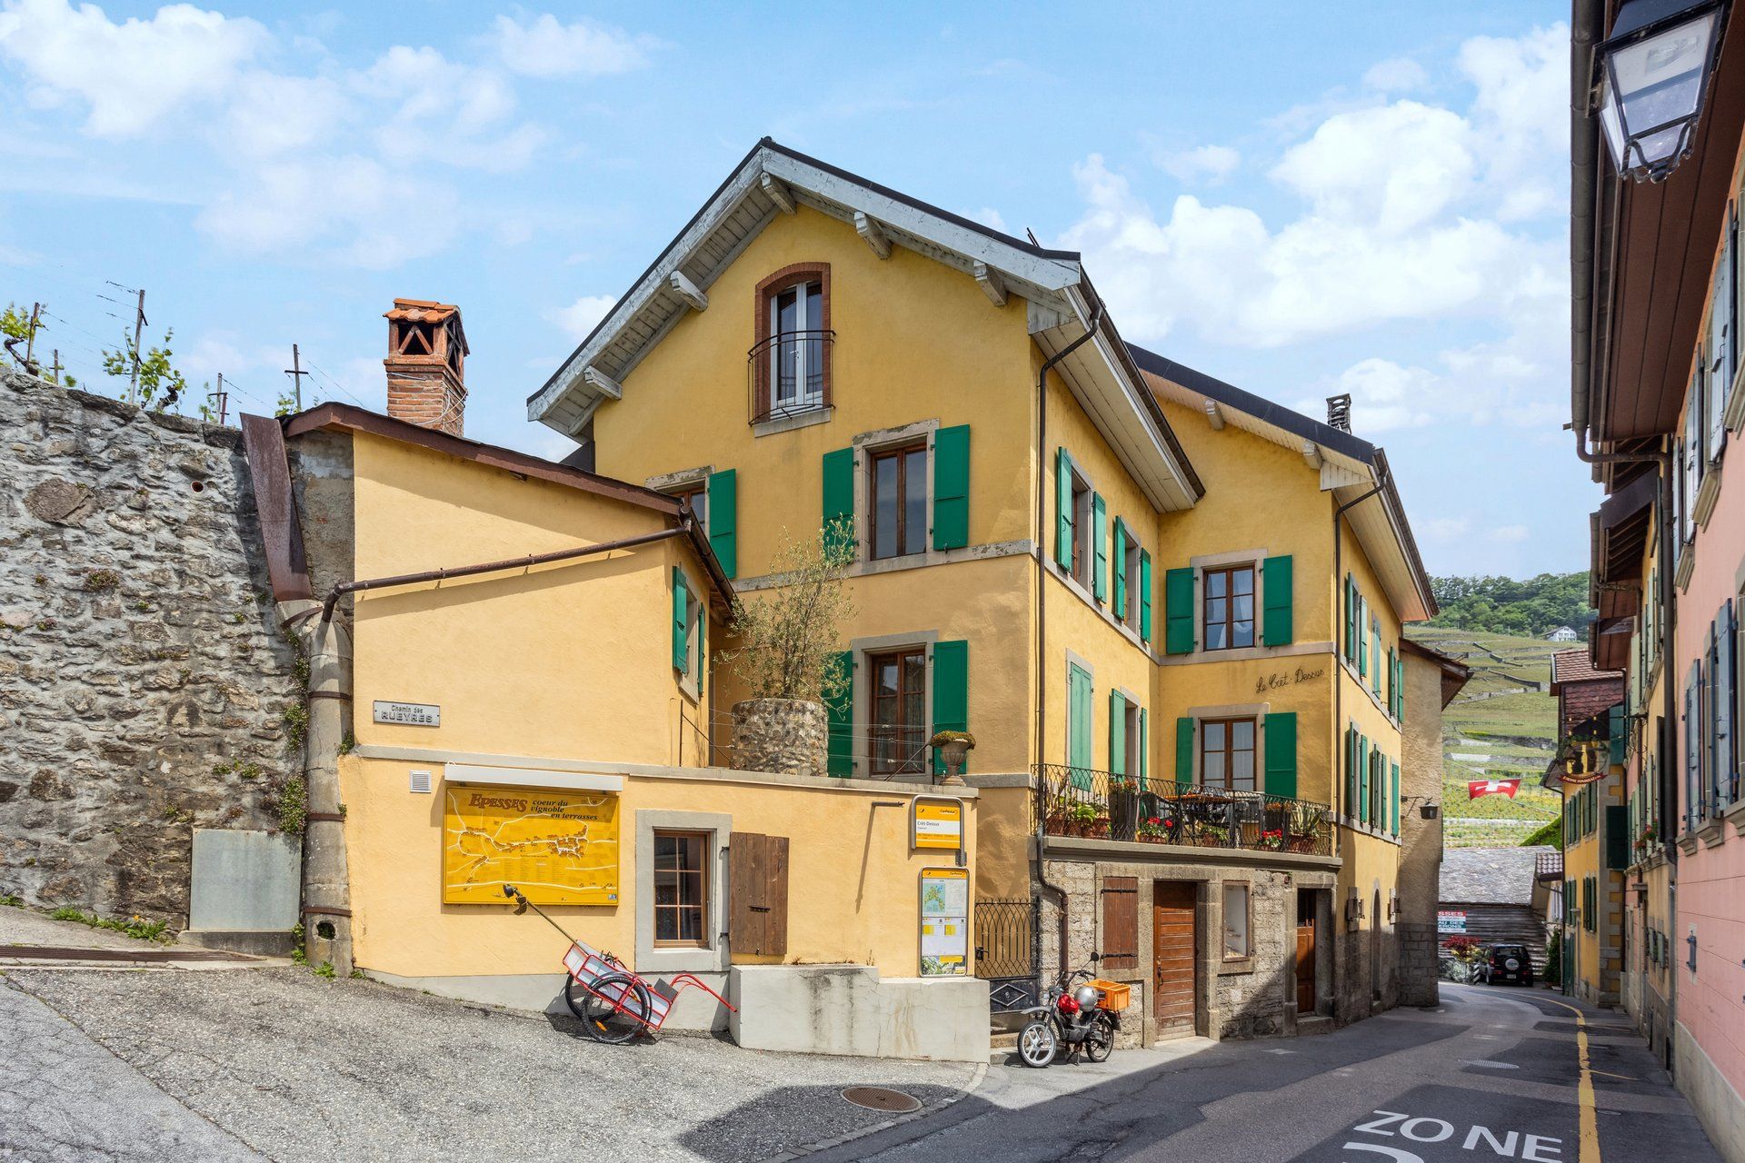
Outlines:
{"type": "Polygon", "coordinates": [[[1586,565],[1565,5],[384,12],[0,0],[0,300],[47,303],[38,345],[108,389],[145,288],[241,406],[297,342],[379,408],[380,312],[440,298],[468,434],[562,455],[525,396],[771,134],[1082,249],[1136,343],[1351,391],[1431,572],[1586,565]]]}

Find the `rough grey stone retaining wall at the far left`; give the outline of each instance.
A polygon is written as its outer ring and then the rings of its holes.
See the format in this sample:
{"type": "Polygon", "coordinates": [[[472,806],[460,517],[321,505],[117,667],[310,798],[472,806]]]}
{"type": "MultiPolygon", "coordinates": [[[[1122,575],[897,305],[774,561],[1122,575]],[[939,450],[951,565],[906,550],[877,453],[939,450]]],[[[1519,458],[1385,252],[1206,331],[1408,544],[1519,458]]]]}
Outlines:
{"type": "Polygon", "coordinates": [[[0,894],[180,928],[300,769],[241,432],[5,370],[0,439],[0,894]]]}

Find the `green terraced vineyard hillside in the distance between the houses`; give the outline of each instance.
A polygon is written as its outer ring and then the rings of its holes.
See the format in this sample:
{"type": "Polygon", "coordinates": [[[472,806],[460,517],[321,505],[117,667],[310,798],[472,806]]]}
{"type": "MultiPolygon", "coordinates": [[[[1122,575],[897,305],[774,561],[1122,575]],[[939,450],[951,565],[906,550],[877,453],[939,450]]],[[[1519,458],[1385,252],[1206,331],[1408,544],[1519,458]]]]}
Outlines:
{"type": "Polygon", "coordinates": [[[1557,820],[1560,800],[1539,778],[1557,748],[1551,654],[1574,643],[1515,638],[1447,626],[1406,635],[1473,668],[1473,680],[1443,711],[1441,814],[1448,847],[1520,844],[1557,820]],[[1468,779],[1520,778],[1511,800],[1469,800],[1468,779]]]}

